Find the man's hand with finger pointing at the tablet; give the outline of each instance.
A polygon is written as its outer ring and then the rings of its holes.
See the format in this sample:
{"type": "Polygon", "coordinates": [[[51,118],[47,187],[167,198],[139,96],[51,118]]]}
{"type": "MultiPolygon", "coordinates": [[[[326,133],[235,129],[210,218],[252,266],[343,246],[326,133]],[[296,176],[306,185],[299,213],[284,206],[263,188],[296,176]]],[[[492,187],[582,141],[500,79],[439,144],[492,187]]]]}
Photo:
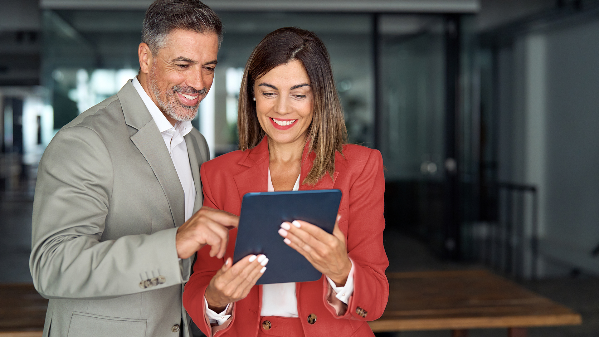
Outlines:
{"type": "Polygon", "coordinates": [[[177,255],[179,258],[188,258],[204,245],[210,245],[210,256],[222,258],[229,242],[229,230],[238,224],[237,215],[202,207],[177,229],[177,255]]]}

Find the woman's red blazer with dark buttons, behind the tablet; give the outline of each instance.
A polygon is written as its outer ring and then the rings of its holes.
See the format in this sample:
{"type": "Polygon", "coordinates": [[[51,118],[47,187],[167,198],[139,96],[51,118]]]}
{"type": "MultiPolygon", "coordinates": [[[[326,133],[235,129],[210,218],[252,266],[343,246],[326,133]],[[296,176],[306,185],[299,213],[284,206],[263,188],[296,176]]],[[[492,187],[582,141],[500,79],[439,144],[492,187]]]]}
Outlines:
{"type": "MultiPolygon", "coordinates": [[[[306,147],[302,156],[300,182],[310,171],[314,157],[313,152],[307,154],[306,147]]],[[[200,170],[204,206],[239,215],[244,194],[267,191],[269,158],[265,137],[253,149],[230,152],[204,163],[200,170]]],[[[337,315],[335,308],[328,302],[331,286],[324,275],[318,281],[298,282],[298,315],[305,336],[374,336],[366,321],[376,320],[383,314],[389,297],[389,282],[385,276],[389,260],[383,248],[385,177],[380,152],[364,146],[345,145],[343,156],[338,152],[335,155],[332,179],[325,174],[316,186],[299,186],[300,190],[331,188],[343,192],[339,206],[339,227],[345,234],[347,254],[355,266],[354,291],[347,311],[337,315]],[[316,314],[316,323],[308,324],[307,317],[310,314],[316,314]]],[[[209,246],[200,249],[193,275],[185,285],[183,305],[207,336],[212,335],[212,329],[205,319],[204,293],[225,259],[233,257],[236,237],[237,228],[229,231],[229,244],[223,258],[210,257],[209,246]]],[[[245,299],[235,303],[229,323],[225,322],[228,326],[214,334],[258,335],[261,302],[262,286],[255,285],[245,299]]]]}

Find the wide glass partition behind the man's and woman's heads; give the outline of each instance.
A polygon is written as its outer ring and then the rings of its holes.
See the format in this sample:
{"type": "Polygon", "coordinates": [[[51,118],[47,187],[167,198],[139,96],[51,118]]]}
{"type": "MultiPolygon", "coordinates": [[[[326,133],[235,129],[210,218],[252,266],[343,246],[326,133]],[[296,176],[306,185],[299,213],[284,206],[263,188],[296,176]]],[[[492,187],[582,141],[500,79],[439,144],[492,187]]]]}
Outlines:
{"type": "MultiPolygon", "coordinates": [[[[325,42],[346,114],[350,142],[374,146],[370,14],[219,13],[225,40],[213,87],[193,124],[212,155],[237,149],[237,99],[252,49],[285,26],[310,29],[325,42]]],[[[43,83],[55,129],[110,97],[139,69],[143,11],[46,11],[43,83]]]]}

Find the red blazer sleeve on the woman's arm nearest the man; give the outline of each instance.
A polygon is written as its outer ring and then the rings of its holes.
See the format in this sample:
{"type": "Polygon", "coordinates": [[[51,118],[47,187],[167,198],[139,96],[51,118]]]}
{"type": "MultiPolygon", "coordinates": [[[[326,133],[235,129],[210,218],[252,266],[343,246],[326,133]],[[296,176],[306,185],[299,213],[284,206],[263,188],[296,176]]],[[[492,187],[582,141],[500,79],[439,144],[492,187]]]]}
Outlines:
{"type": "MultiPolygon", "coordinates": [[[[202,179],[202,192],[204,192],[204,206],[211,207],[214,209],[222,209],[215,201],[215,195],[211,189],[210,182],[214,181],[209,177],[206,177],[205,171],[206,164],[202,164],[199,169],[199,174],[202,179]]],[[[230,240],[230,235],[229,235],[230,240]]],[[[230,245],[230,243],[229,243],[230,245]]],[[[193,323],[199,327],[200,330],[206,336],[213,336],[218,330],[223,330],[229,326],[234,320],[235,306],[231,306],[232,314],[228,321],[223,323],[221,326],[213,327],[210,326],[210,322],[207,321],[207,315],[205,312],[204,294],[210,280],[216,275],[216,272],[225,263],[225,258],[210,257],[210,246],[205,245],[198,251],[198,258],[193,264],[193,274],[190,276],[189,281],[185,284],[183,291],[183,306],[192,318],[193,323]]]]}

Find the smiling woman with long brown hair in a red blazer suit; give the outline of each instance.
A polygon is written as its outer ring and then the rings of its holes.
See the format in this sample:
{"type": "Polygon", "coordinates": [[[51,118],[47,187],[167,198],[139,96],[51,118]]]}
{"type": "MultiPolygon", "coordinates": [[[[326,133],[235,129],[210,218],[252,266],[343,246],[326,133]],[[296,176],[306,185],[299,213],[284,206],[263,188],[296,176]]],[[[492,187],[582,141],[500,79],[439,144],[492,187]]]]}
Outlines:
{"type": "Polygon", "coordinates": [[[383,249],[380,153],[346,144],[328,52],[314,33],[281,28],[256,46],[240,92],[240,151],[204,163],[204,206],[240,214],[247,192],[337,188],[332,234],[283,222],[281,239],[320,272],[319,281],[254,284],[268,258],[232,266],[237,229],[225,257],[198,252],[183,304],[207,336],[373,336],[366,323],[389,294],[383,249]]]}

